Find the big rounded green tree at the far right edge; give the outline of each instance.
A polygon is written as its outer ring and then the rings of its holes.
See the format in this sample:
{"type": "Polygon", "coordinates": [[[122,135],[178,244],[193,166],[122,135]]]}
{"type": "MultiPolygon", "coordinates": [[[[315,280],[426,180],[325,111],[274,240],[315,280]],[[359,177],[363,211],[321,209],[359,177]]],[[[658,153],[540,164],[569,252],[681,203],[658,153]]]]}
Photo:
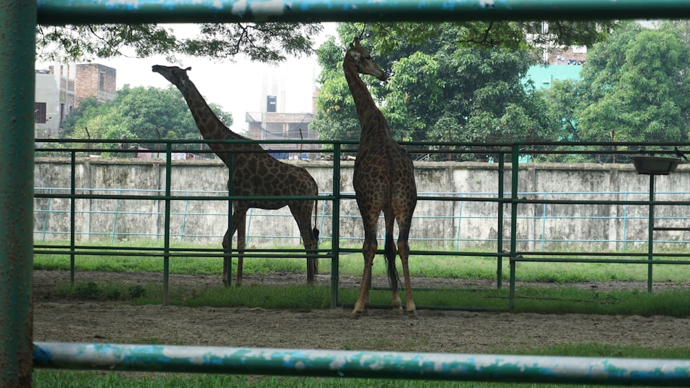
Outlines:
{"type": "Polygon", "coordinates": [[[585,141],[688,141],[690,48],[684,25],[627,23],[582,68],[575,116],[585,141]]]}

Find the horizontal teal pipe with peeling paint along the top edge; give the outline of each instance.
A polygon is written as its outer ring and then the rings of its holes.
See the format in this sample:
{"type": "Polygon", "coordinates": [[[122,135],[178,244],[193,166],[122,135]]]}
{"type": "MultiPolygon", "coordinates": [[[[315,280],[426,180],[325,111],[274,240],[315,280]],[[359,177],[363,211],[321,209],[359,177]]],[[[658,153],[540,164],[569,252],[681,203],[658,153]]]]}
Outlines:
{"type": "Polygon", "coordinates": [[[680,19],[687,0],[39,0],[40,24],[680,19]]]}

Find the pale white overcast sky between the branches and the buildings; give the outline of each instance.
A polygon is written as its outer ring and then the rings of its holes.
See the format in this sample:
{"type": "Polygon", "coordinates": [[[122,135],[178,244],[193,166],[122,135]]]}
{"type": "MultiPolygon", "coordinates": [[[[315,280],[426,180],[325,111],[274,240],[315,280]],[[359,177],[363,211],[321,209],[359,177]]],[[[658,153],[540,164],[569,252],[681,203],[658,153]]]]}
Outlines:
{"type": "MultiPolygon", "coordinates": [[[[191,25],[175,25],[175,32],[191,25]]],[[[317,37],[318,47],[327,35],[335,35],[335,23],[326,23],[324,33],[317,37]]],[[[221,105],[223,110],[233,114],[234,132],[245,132],[247,123],[245,112],[262,110],[262,85],[266,79],[268,94],[272,94],[273,82],[277,83],[278,108],[284,104],[284,112],[311,112],[311,96],[314,90],[315,77],[319,68],[315,56],[299,59],[288,58],[278,66],[250,62],[244,58],[235,58],[235,63],[214,62],[210,59],[181,57],[181,63],[168,63],[163,57],[131,59],[125,57],[96,59],[99,63],[117,70],[117,89],[128,84],[131,87],[153,86],[167,88],[170,85],[160,74],[151,71],[152,65],[178,65],[181,68],[192,67],[189,78],[197,89],[206,97],[208,103],[221,105]],[[284,89],[285,101],[281,90],[284,89]]],[[[37,64],[37,68],[45,64],[37,64]]]]}

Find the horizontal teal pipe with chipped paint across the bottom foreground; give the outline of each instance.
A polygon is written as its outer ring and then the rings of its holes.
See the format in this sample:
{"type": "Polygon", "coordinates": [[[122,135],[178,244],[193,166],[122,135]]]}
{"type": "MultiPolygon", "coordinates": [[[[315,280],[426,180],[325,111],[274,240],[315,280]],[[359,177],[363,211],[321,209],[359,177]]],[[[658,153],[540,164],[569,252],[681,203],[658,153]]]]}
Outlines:
{"type": "Polygon", "coordinates": [[[690,360],[36,343],[43,368],[607,385],[690,385],[690,360]]]}

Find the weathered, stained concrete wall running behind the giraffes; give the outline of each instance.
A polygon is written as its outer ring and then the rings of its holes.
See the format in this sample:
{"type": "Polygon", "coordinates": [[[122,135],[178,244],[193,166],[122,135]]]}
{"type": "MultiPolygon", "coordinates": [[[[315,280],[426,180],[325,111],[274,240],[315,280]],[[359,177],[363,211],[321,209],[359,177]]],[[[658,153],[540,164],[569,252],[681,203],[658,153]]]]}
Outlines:
{"type": "MultiPolygon", "coordinates": [[[[293,161],[314,176],[322,194],[333,191],[332,162],[293,161]]],[[[339,171],[339,190],[354,194],[353,162],[344,161],[339,171]]],[[[497,229],[498,166],[495,163],[415,163],[420,196],[462,196],[464,201],[419,201],[411,238],[422,247],[496,247],[499,233],[509,249],[511,205],[504,204],[504,226],[497,229]]],[[[164,195],[165,163],[141,159],[78,159],[76,194],[116,196],[79,198],[75,201],[75,232],[78,241],[121,241],[160,238],[164,235],[165,202],[146,198],[164,195]],[[141,196],[129,198],[128,196],[141,196]]],[[[228,170],[220,161],[173,161],[171,190],[176,196],[221,197],[226,194],[228,170]]],[[[511,191],[511,167],[506,165],[504,190],[511,191]]],[[[566,201],[647,201],[649,176],[638,175],[632,165],[527,163],[520,165],[518,198],[566,201]]],[[[40,194],[69,194],[70,163],[63,158],[37,158],[35,187],[40,194]]],[[[690,201],[690,168],[678,167],[669,176],[655,177],[657,201],[690,201]]],[[[213,198],[211,198],[213,199],[213,198]]],[[[219,245],[227,229],[225,200],[190,198],[171,201],[172,242],[219,245]]],[[[68,240],[68,198],[37,198],[34,201],[35,241],[68,240]]],[[[331,238],[332,203],[319,201],[317,227],[322,241],[331,238]]],[[[571,252],[620,250],[647,242],[648,205],[594,203],[520,204],[517,238],[521,250],[569,249],[571,252]]],[[[656,226],[688,227],[688,206],[657,205],[656,226]]],[[[287,208],[250,210],[248,247],[299,246],[299,232],[287,208]]],[[[340,203],[340,238],[359,246],[363,236],[359,211],[353,199],[340,203]]],[[[396,232],[397,234],[397,232],[396,232]]],[[[379,236],[383,236],[380,222],[379,236]]],[[[655,232],[655,241],[690,243],[688,232],[655,232]]],[[[657,244],[655,243],[655,246],[657,244]]],[[[678,247],[678,245],[673,245],[678,247]]],[[[413,248],[415,249],[415,248],[413,248]]],[[[658,248],[655,248],[658,249],[658,248]]]]}

